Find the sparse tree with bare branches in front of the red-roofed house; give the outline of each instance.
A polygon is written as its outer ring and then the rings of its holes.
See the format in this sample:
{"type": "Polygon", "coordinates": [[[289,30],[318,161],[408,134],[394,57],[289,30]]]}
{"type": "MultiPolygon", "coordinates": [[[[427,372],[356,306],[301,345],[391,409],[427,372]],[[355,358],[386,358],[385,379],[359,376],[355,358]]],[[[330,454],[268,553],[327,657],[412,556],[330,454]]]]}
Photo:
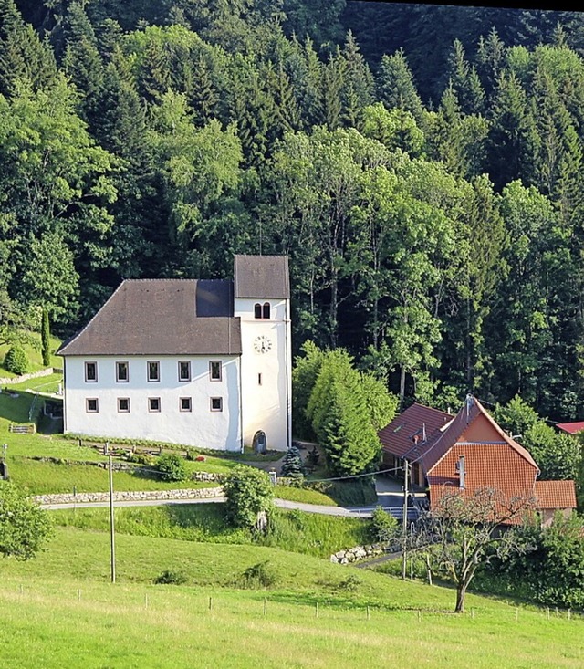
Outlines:
{"type": "Polygon", "coordinates": [[[480,565],[530,549],[514,528],[533,508],[533,497],[509,498],[492,487],[473,493],[447,490],[416,523],[406,549],[425,557],[429,575],[432,562],[452,577],[454,612],[463,613],[466,591],[480,565]]]}

